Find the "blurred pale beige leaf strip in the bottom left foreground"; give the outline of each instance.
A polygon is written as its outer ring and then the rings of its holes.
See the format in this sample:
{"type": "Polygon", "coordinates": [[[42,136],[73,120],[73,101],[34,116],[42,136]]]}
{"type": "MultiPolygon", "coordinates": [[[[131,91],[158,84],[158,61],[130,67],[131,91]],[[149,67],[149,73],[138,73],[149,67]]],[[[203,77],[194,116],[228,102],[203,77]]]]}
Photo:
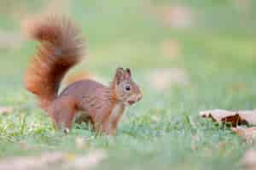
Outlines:
{"type": "Polygon", "coordinates": [[[56,167],[67,169],[88,170],[99,164],[106,154],[102,150],[96,150],[85,156],[68,155],[59,152],[44,153],[41,156],[9,157],[0,161],[0,169],[4,170],[44,170],[56,167]]]}

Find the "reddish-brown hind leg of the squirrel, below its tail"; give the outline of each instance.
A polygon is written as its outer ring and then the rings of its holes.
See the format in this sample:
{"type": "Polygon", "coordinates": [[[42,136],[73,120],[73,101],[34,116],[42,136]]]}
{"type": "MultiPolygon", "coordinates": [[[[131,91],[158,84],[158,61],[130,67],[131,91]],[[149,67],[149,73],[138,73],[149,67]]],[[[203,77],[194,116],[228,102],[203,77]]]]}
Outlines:
{"type": "Polygon", "coordinates": [[[57,98],[49,107],[49,115],[53,119],[53,122],[64,133],[68,133],[72,127],[77,111],[77,101],[71,96],[57,98]]]}

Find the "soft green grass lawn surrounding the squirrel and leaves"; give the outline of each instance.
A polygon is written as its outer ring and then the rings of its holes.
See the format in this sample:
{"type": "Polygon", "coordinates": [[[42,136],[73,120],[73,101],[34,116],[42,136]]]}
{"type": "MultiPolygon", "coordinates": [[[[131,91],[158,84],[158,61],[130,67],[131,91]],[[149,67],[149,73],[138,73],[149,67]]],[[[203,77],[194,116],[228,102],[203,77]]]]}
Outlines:
{"type": "MultiPolygon", "coordinates": [[[[110,80],[117,66],[131,67],[143,88],[143,100],[125,112],[116,137],[95,136],[86,125],[76,125],[67,136],[55,132],[22,87],[35,44],[1,48],[0,104],[14,106],[15,112],[0,116],[0,157],[101,149],[108,158],[96,169],[239,169],[249,146],[228,127],[201,120],[198,113],[255,108],[255,5],[243,12],[234,1],[214,2],[177,1],[190,7],[196,18],[195,26],[183,29],[163,25],[149,12],[146,1],[69,3],[70,15],[87,37],[90,56],[78,69],[86,67],[110,80]],[[166,40],[182,47],[175,59],[165,58],[160,51],[166,40]],[[189,83],[156,90],[147,76],[165,67],[183,69],[189,83]],[[78,137],[85,140],[83,149],[77,147],[78,137]]],[[[152,1],[151,5],[166,4],[152,1]]],[[[17,22],[8,17],[1,17],[0,26],[17,30],[17,22]]]]}

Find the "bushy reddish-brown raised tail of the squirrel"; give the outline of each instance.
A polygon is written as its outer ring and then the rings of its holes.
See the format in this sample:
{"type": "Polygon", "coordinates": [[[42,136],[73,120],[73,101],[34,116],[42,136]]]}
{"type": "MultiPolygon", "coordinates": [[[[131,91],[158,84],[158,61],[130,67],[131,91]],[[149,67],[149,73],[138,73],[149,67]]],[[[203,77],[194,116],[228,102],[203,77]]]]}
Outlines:
{"type": "Polygon", "coordinates": [[[40,42],[26,72],[26,89],[37,95],[39,105],[47,110],[58,95],[62,78],[82,59],[82,38],[70,20],[56,16],[28,21],[24,28],[29,37],[40,42]]]}

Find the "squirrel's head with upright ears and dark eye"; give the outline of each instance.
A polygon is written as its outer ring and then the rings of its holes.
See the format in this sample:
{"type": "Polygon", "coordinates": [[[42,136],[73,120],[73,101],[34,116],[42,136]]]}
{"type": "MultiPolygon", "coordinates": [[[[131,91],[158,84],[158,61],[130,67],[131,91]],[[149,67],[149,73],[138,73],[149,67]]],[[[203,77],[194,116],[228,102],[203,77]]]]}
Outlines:
{"type": "Polygon", "coordinates": [[[132,105],[142,99],[142,93],[136,82],[132,81],[131,70],[118,68],[113,78],[116,98],[125,105],[132,105]]]}

